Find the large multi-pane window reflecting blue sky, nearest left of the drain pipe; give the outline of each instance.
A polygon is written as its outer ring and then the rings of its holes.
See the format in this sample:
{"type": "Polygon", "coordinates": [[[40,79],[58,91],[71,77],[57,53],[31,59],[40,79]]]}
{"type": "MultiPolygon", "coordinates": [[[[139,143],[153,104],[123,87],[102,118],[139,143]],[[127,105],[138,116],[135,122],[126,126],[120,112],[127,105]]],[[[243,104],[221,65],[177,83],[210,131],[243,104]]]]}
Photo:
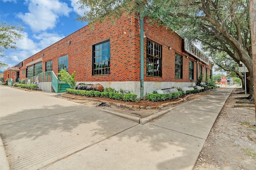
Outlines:
{"type": "Polygon", "coordinates": [[[92,75],[110,74],[110,41],[93,45],[92,53],[92,75]]]}

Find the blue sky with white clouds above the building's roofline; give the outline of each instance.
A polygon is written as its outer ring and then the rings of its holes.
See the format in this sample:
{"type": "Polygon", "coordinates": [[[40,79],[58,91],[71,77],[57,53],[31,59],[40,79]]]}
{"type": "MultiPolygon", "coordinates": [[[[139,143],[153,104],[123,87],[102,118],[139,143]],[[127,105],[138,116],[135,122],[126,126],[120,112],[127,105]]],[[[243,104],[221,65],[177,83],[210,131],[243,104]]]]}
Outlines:
{"type": "MultiPolygon", "coordinates": [[[[14,66],[42,49],[56,43],[87,25],[74,21],[78,10],[78,0],[0,0],[1,23],[22,23],[24,38],[16,42],[16,50],[6,50],[2,63],[14,66]]],[[[7,67],[2,67],[1,70],[7,67]]]]}

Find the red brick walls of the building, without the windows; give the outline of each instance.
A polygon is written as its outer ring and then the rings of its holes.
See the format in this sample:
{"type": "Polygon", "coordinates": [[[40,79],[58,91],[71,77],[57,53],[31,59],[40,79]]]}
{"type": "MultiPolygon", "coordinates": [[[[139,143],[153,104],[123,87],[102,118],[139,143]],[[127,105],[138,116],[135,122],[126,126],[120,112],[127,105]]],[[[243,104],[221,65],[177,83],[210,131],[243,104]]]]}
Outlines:
{"type": "MultiPolygon", "coordinates": [[[[170,82],[173,82],[174,84],[180,83],[178,84],[180,86],[193,86],[197,78],[197,59],[187,52],[182,51],[182,38],[163,26],[150,25],[147,19],[144,19],[144,32],[146,35],[146,38],[144,38],[145,82],[154,82],[156,84],[164,82],[170,84],[170,82]],[[146,76],[147,39],[162,45],[162,77],[146,76]],[[169,47],[172,49],[169,49],[169,47]],[[182,78],[180,79],[175,78],[175,53],[181,55],[183,59],[182,78]],[[188,58],[186,58],[186,56],[188,56],[188,58]],[[189,80],[189,60],[194,61],[193,80],[189,80]],[[182,83],[185,84],[182,85],[182,83]]],[[[110,22],[94,24],[93,29],[90,29],[87,25],[22,61],[19,70],[20,80],[26,78],[26,68],[28,66],[42,62],[42,71],[44,72],[46,71],[46,62],[50,60],[52,60],[52,70],[57,74],[58,57],[64,55],[68,55],[68,72],[72,74],[76,71],[77,82],[100,82],[104,87],[114,86],[117,90],[119,90],[118,83],[122,84],[120,87],[124,89],[124,82],[133,82],[131,86],[134,87],[132,87],[131,90],[138,93],[138,89],[136,90],[134,88],[138,88],[138,83],[140,83],[140,20],[130,15],[120,18],[115,21],[114,24],[110,22]],[[69,44],[68,41],[71,41],[71,43],[69,44]],[[103,41],[110,41],[110,74],[92,75],[92,47],[103,41]],[[25,74],[22,74],[24,73],[22,70],[25,70],[25,74]],[[134,85],[134,82],[137,85],[134,85]]],[[[199,64],[203,66],[203,74],[205,68],[207,68],[209,74],[212,69],[211,64],[209,66],[202,61],[199,61],[199,64]]],[[[6,70],[4,72],[4,80],[13,78],[13,81],[15,81],[17,74],[13,75],[14,72],[17,71],[6,70]]],[[[161,85],[155,87],[168,88],[166,86],[167,85],[161,85]]],[[[150,91],[152,91],[152,89],[148,90],[147,93],[150,91]]]]}

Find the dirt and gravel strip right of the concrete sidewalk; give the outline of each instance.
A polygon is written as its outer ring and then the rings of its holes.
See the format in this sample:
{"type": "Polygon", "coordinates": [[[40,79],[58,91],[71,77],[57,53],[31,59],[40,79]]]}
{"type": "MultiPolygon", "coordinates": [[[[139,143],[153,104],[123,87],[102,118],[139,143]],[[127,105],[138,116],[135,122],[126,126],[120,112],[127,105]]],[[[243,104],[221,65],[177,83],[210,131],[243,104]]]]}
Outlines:
{"type": "Polygon", "coordinates": [[[254,103],[234,89],[204,143],[194,170],[252,170],[256,168],[254,103]],[[240,99],[237,99],[240,98],[240,99]],[[245,103],[249,103],[246,104],[245,103]],[[240,107],[234,107],[241,104],[240,107]],[[242,106],[244,105],[244,106],[242,106]]]}

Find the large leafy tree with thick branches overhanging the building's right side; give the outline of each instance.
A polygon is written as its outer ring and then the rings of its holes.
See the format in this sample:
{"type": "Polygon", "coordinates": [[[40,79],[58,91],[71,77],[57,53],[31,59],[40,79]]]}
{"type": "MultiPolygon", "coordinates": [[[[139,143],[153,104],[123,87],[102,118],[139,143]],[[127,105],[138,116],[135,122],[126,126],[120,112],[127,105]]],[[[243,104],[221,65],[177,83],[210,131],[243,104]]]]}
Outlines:
{"type": "MultiPolygon", "coordinates": [[[[81,8],[90,8],[78,17],[80,21],[113,20],[125,11],[148,16],[152,23],[174,31],[182,30],[210,52],[224,51],[236,63],[242,61],[249,70],[250,87],[253,86],[249,0],[80,0],[78,3],[81,8]]],[[[254,99],[252,90],[250,98],[254,99]]]]}

